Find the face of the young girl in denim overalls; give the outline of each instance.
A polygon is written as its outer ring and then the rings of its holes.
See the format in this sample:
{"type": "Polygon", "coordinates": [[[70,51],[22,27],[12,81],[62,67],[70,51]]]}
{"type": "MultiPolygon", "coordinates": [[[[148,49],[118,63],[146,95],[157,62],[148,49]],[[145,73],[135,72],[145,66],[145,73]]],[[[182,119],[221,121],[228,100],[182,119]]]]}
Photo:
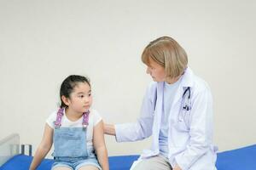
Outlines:
{"type": "MultiPolygon", "coordinates": [[[[64,97],[65,98],[65,97],[64,97]]],[[[88,83],[78,82],[73,88],[73,92],[69,98],[64,99],[68,110],[75,113],[84,113],[89,111],[90,105],[92,104],[91,89],[88,83]]]]}

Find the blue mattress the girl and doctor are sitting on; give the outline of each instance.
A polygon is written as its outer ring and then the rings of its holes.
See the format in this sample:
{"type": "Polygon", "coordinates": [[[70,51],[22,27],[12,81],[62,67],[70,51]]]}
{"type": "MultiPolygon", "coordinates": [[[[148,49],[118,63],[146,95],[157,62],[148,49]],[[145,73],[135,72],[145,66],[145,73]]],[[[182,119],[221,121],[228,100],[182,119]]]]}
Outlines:
{"type": "MultiPolygon", "coordinates": [[[[110,170],[128,170],[138,156],[110,156],[110,170]]],[[[7,161],[0,170],[27,170],[32,156],[18,155],[7,161]]],[[[38,170],[50,169],[53,160],[44,159],[38,170]]],[[[256,144],[218,153],[218,170],[256,170],[256,144]]]]}

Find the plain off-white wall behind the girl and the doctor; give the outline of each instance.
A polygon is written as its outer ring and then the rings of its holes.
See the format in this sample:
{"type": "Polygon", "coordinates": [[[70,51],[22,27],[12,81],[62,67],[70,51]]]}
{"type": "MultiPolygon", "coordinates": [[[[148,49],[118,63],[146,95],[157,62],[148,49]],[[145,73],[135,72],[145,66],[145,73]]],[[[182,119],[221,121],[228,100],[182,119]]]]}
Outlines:
{"type": "MultiPolygon", "coordinates": [[[[166,35],[212,88],[219,149],[255,144],[255,8],[253,0],[0,0],[0,139],[20,133],[35,150],[70,74],[90,77],[105,122],[135,121],[151,81],[140,55],[166,35]]],[[[109,155],[150,144],[106,138],[109,155]]]]}

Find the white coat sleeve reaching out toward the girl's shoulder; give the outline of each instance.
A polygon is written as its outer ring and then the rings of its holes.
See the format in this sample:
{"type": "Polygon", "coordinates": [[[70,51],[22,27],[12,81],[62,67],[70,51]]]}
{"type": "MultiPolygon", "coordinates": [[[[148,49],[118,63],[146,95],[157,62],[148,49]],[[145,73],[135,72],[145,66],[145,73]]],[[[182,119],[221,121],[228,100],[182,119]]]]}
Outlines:
{"type": "Polygon", "coordinates": [[[151,136],[155,99],[156,84],[151,83],[144,95],[141,116],[137,119],[137,122],[116,124],[114,126],[117,142],[137,141],[151,136]]]}

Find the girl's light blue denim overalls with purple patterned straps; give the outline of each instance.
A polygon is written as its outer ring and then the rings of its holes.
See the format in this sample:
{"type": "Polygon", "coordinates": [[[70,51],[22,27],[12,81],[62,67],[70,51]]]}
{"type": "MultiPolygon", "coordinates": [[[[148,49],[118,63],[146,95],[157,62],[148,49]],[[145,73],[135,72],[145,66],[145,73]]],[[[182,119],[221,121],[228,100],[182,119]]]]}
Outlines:
{"type": "Polygon", "coordinates": [[[83,113],[83,127],[61,127],[64,108],[57,112],[54,130],[54,167],[69,167],[77,170],[85,165],[93,165],[102,169],[86,144],[86,130],[89,122],[89,111],[83,113]]]}

